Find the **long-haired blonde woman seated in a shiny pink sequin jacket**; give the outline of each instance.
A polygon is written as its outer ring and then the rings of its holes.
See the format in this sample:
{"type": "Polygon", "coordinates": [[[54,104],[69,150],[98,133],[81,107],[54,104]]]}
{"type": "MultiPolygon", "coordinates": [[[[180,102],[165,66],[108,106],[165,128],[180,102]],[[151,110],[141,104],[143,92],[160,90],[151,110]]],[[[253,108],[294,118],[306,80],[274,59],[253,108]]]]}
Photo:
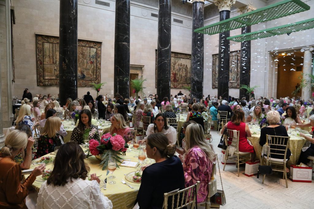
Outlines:
{"type": "Polygon", "coordinates": [[[211,178],[215,152],[205,142],[203,128],[198,123],[187,126],[185,134],[184,157],[179,155],[183,163],[185,186],[189,187],[200,181],[197,202],[206,201],[208,195],[208,183],[211,178]]]}

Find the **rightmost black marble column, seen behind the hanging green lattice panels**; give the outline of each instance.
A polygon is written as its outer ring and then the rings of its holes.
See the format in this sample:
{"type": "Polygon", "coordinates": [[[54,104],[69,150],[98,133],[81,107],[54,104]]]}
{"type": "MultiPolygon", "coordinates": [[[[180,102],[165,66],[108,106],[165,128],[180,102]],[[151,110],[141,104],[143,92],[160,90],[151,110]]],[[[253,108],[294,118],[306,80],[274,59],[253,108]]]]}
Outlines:
{"type": "MultiPolygon", "coordinates": [[[[251,32],[251,26],[242,27],[241,34],[251,32]]],[[[250,86],[251,80],[251,41],[241,42],[241,62],[240,62],[240,85],[250,86]]],[[[246,97],[249,101],[250,95],[244,89],[240,89],[240,99],[246,97]]]]}

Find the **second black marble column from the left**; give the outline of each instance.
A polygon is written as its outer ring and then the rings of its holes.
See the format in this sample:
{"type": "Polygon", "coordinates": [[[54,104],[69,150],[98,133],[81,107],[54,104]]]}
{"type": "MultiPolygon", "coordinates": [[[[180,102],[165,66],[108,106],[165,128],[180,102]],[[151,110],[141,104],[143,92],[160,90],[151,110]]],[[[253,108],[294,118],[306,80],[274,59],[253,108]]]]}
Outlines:
{"type": "Polygon", "coordinates": [[[116,0],[114,91],[129,98],[130,0],[116,0]]]}

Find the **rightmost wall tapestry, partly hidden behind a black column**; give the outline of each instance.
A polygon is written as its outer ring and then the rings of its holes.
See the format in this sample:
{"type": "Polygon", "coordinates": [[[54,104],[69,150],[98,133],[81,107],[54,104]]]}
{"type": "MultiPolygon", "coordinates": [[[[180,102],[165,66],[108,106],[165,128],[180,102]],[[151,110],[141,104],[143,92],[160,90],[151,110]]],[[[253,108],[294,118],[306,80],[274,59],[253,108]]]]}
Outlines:
{"type": "MultiPolygon", "coordinates": [[[[240,50],[230,52],[229,88],[240,88],[240,50]]],[[[218,54],[213,55],[212,88],[218,88],[218,54]]]]}

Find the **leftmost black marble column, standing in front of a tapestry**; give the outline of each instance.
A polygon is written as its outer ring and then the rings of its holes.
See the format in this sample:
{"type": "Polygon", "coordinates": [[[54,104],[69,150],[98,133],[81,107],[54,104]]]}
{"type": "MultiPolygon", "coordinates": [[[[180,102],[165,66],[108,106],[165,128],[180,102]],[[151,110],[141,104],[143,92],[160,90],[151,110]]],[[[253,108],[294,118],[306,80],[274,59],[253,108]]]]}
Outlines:
{"type": "Polygon", "coordinates": [[[78,97],[78,0],[60,0],[59,97],[78,97]]]}

